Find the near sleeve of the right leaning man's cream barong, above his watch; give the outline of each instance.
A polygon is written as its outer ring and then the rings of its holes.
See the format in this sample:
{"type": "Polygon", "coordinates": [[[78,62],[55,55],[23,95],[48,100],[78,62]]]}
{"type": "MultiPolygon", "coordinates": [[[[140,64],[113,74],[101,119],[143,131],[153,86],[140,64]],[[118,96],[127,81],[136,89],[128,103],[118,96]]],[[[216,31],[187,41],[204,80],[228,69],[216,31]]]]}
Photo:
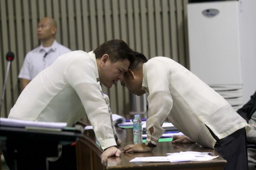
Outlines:
{"type": "Polygon", "coordinates": [[[146,121],[146,140],[155,145],[165,131],[161,126],[173,106],[169,90],[169,74],[168,68],[154,63],[147,63],[143,73],[149,89],[149,96],[147,97],[149,118],[146,121]],[[153,133],[150,133],[150,127],[153,127],[153,133]]]}

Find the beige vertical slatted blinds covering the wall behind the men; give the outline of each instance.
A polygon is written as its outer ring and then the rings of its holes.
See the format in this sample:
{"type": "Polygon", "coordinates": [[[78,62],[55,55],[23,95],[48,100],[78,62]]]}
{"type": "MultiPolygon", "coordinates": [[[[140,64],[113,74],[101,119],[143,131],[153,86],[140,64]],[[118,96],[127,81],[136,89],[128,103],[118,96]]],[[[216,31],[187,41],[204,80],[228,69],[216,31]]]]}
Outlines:
{"type": "MultiPolygon", "coordinates": [[[[1,117],[7,117],[21,93],[18,79],[25,55],[40,45],[37,23],[43,17],[57,22],[56,40],[74,50],[92,51],[111,39],[121,39],[147,59],[166,56],[186,68],[188,0],[0,0],[0,90],[6,73],[6,53],[12,51],[1,117]]],[[[129,113],[128,90],[118,82],[111,89],[113,113],[129,113]]]]}

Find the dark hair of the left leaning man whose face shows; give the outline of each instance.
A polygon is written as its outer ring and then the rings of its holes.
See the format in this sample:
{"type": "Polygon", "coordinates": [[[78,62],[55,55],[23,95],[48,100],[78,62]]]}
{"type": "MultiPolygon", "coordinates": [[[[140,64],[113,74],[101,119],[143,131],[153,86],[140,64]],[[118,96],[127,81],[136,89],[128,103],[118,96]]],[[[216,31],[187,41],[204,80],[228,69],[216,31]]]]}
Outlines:
{"type": "Polygon", "coordinates": [[[128,59],[130,62],[134,61],[134,52],[122,40],[106,41],[93,50],[93,52],[95,53],[96,59],[102,58],[104,54],[108,54],[112,63],[125,59],[128,59]]]}

